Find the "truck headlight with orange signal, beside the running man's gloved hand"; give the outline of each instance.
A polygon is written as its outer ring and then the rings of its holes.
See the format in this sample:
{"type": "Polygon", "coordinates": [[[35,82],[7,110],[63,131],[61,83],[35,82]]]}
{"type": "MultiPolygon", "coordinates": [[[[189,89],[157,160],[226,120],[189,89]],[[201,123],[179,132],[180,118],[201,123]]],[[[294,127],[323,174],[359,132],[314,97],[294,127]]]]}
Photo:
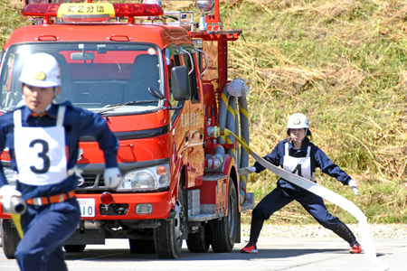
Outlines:
{"type": "Polygon", "coordinates": [[[123,176],[117,191],[151,191],[166,188],[170,182],[169,164],[130,171],[123,176]]]}

